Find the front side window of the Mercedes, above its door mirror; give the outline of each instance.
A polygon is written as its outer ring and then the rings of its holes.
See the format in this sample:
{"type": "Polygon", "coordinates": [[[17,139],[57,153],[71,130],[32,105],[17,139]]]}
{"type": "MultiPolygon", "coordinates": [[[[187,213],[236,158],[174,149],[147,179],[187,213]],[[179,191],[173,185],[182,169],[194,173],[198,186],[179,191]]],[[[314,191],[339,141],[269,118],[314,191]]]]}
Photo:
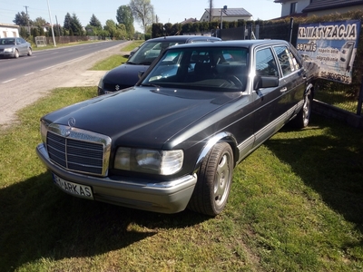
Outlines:
{"type": "Polygon", "coordinates": [[[279,76],[278,68],[270,48],[256,52],[256,74],[279,76]]]}

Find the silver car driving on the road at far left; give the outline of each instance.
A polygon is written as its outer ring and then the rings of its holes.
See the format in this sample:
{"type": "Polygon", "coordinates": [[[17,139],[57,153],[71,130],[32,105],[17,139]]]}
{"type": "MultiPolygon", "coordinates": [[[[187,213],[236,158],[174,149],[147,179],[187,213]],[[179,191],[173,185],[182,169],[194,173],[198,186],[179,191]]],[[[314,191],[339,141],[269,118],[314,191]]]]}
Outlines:
{"type": "Polygon", "coordinates": [[[18,58],[20,55],[32,55],[32,45],[23,38],[0,38],[0,56],[18,58]]]}

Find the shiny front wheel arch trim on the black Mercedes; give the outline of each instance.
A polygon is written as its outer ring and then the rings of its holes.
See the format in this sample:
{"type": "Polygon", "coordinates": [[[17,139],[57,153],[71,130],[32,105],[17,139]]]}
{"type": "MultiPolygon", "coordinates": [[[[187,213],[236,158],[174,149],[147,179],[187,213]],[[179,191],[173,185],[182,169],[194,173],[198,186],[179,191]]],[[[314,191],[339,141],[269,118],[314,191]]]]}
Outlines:
{"type": "Polygon", "coordinates": [[[201,153],[198,157],[198,160],[195,163],[194,167],[194,173],[198,172],[198,170],[201,167],[201,162],[204,160],[204,158],[207,156],[208,152],[211,151],[212,147],[218,143],[218,142],[227,142],[231,146],[231,150],[233,152],[233,167],[236,166],[236,163],[238,161],[239,157],[239,151],[238,151],[238,144],[236,138],[231,134],[230,132],[219,132],[218,134],[215,134],[213,137],[207,141],[207,143],[204,145],[204,147],[201,150],[201,153]]]}

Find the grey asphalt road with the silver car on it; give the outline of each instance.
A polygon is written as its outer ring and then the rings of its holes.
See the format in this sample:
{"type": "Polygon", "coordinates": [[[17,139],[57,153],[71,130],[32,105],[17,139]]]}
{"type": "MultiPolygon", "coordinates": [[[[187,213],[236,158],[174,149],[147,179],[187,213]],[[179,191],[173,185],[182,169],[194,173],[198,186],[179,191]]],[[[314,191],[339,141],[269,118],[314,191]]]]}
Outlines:
{"type": "Polygon", "coordinates": [[[21,56],[18,59],[0,59],[0,90],[1,83],[9,83],[29,75],[53,68],[67,62],[83,58],[91,53],[123,44],[125,41],[108,41],[92,44],[59,47],[51,50],[34,51],[32,56],[21,56]]]}

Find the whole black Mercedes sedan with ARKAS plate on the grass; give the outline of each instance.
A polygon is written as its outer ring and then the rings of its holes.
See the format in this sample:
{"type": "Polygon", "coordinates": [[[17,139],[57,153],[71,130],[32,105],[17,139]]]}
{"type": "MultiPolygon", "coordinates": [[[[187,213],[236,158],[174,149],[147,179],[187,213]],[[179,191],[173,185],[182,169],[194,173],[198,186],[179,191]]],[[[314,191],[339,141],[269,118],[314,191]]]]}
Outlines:
{"type": "Polygon", "coordinates": [[[215,216],[241,160],[309,124],[317,73],[285,41],[171,46],[135,86],[42,117],[36,151],[75,197],[215,216]]]}

